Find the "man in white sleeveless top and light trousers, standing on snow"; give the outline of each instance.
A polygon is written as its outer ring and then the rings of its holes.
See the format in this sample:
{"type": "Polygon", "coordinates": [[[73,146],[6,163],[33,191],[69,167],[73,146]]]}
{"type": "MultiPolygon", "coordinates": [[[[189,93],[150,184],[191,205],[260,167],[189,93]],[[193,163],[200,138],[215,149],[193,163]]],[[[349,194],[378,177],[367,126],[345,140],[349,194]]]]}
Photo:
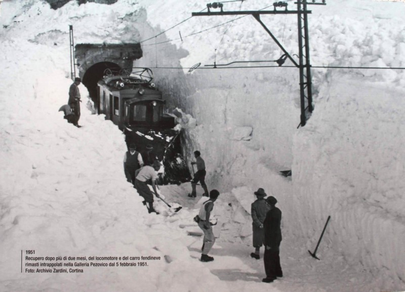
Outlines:
{"type": "Polygon", "coordinates": [[[203,247],[201,248],[201,262],[211,262],[214,260],[210,257],[208,253],[210,252],[212,246],[215,243],[215,236],[210,224],[211,212],[214,209],[214,202],[219,196],[219,191],[213,189],[210,191],[210,199],[204,202],[203,206],[199,209],[198,217],[200,218],[198,222],[199,228],[204,232],[203,247]]]}

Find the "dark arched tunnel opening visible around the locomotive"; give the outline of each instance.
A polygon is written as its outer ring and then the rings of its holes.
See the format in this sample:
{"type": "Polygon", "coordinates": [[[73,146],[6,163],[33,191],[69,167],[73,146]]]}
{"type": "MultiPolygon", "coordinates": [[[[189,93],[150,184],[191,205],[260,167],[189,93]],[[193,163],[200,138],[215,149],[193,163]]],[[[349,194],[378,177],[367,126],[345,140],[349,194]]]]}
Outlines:
{"type": "Polygon", "coordinates": [[[106,69],[117,72],[121,67],[112,62],[99,62],[87,69],[85,75],[83,75],[82,83],[87,87],[87,90],[89,90],[90,98],[95,104],[98,102],[97,82],[103,78],[106,69]]]}

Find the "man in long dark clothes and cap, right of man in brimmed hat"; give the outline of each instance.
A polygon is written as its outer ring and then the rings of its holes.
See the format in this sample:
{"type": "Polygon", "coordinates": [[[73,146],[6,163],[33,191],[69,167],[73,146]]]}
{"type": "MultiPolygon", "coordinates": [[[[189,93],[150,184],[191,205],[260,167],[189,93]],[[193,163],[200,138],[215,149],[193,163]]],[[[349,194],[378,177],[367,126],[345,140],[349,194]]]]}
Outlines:
{"type": "Polygon", "coordinates": [[[263,222],[264,227],[264,270],[266,271],[266,278],[262,281],[271,283],[277,277],[282,277],[282,270],[280,266],[280,243],[281,237],[281,211],[275,204],[277,200],[270,196],[267,198],[267,203],[270,205],[270,210],[266,214],[263,222]]]}

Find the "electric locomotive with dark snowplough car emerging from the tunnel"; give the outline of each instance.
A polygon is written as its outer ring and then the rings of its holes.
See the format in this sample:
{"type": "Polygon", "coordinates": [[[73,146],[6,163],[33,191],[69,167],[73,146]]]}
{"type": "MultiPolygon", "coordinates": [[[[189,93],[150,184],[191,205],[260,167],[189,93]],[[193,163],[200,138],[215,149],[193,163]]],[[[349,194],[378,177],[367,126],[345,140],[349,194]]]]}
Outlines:
{"type": "Polygon", "coordinates": [[[153,154],[163,163],[163,183],[181,183],[191,179],[181,155],[180,132],[174,130],[175,116],[165,113],[166,101],[152,83],[149,68],[106,69],[97,85],[97,110],[126,135],[127,145],[153,154]]]}

